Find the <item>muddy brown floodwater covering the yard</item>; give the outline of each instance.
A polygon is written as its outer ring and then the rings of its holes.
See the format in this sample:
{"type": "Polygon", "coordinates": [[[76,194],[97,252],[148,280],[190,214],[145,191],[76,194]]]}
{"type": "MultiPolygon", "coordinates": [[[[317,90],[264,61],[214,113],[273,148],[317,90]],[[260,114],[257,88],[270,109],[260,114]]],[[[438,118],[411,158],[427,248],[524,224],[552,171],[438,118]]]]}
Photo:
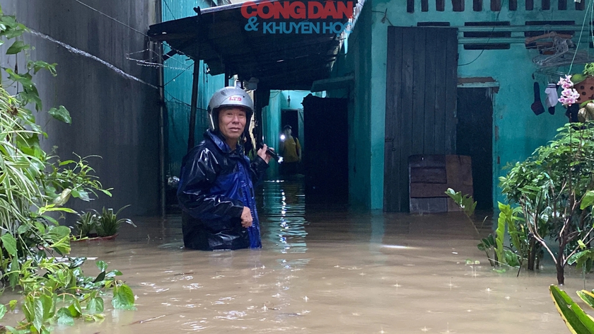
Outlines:
{"type": "MultiPolygon", "coordinates": [[[[462,214],[310,207],[290,181],[258,200],[262,250],[184,250],[179,217],[74,245],[124,273],[138,310],[106,300],[102,323],[54,333],[569,333],[548,292],[554,268],[492,271],[462,214]]],[[[568,276],[577,300],[584,282],[568,276]]]]}

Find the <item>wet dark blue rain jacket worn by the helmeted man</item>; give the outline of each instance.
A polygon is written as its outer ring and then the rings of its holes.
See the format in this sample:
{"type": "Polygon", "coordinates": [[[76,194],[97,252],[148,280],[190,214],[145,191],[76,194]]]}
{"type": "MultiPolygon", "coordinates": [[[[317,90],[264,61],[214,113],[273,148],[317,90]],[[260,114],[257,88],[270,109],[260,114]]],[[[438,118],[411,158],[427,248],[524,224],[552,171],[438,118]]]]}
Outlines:
{"type": "Polygon", "coordinates": [[[250,163],[243,146],[235,151],[207,130],[204,140],[183,159],[177,200],[183,210],[184,246],[199,250],[261,248],[254,188],[268,164],[260,156],[250,163]],[[241,226],[243,207],[252,226],[241,226]]]}

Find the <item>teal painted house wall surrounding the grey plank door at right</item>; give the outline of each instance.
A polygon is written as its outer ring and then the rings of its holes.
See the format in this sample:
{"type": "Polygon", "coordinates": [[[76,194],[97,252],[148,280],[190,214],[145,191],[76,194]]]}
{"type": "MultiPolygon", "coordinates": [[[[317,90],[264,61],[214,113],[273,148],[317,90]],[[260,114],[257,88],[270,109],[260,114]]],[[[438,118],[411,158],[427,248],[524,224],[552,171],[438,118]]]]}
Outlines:
{"type": "MultiPolygon", "coordinates": [[[[429,12],[421,12],[421,1],[417,0],[415,4],[415,13],[406,12],[406,4],[402,0],[372,0],[366,1],[366,8],[362,12],[362,17],[356,23],[355,32],[349,37],[349,49],[345,60],[349,57],[356,59],[356,62],[343,62],[338,64],[347,69],[340,71],[354,71],[356,80],[354,86],[354,122],[356,127],[363,127],[363,133],[357,133],[354,125],[351,125],[353,137],[358,142],[356,151],[364,154],[364,150],[370,150],[368,163],[369,170],[363,170],[363,175],[352,173],[351,176],[351,197],[359,200],[354,192],[361,190],[365,195],[368,194],[368,200],[363,202],[371,209],[381,209],[383,207],[383,164],[384,164],[384,137],[385,137],[385,71],[386,71],[386,41],[387,30],[390,22],[399,26],[416,26],[419,21],[447,21],[452,26],[463,26],[466,21],[510,21],[511,25],[524,25],[525,21],[542,20],[573,20],[576,24],[583,21],[583,15],[586,11],[541,11],[535,8],[535,11],[508,11],[506,9],[507,1],[503,1],[501,14],[491,11],[474,12],[472,11],[472,1],[465,2],[466,11],[453,12],[452,2],[445,1],[445,11],[435,11],[435,1],[429,1],[429,12]],[[470,8],[470,9],[469,9],[470,8]],[[373,11],[368,16],[365,13],[373,11]],[[384,12],[387,11],[387,20],[381,22],[384,12]],[[365,19],[368,18],[369,21],[365,19]],[[361,27],[364,25],[364,27],[361,27]],[[370,30],[366,30],[369,25],[370,30]],[[360,28],[359,31],[357,31],[360,28]],[[365,30],[365,31],[363,31],[365,30]],[[359,34],[357,34],[359,33],[359,34]],[[371,47],[369,44],[371,43],[371,47]],[[371,52],[371,68],[369,71],[362,71],[366,67],[366,57],[361,57],[366,50],[371,52]],[[362,58],[362,59],[361,59],[362,58]],[[361,63],[362,62],[362,63],[361,63]],[[361,77],[363,76],[363,77],[361,77]],[[369,84],[367,84],[369,82],[369,84]],[[366,88],[368,94],[366,96],[366,88]],[[365,114],[368,113],[368,116],[365,114]],[[368,123],[367,123],[368,122],[368,123]],[[369,136],[369,139],[367,139],[369,136]],[[368,174],[367,174],[368,173],[368,174]],[[366,182],[368,180],[368,187],[366,182]]],[[[535,1],[535,7],[540,5],[540,1],[535,1]]],[[[518,6],[521,8],[523,4],[518,6]]],[[[553,1],[552,7],[557,4],[553,1]]],[[[573,2],[569,1],[569,8],[573,8],[573,2]]],[[[488,8],[488,4],[484,5],[488,8]]],[[[586,38],[587,38],[586,33],[586,38]]],[[[585,46],[585,45],[582,45],[585,46]]],[[[537,55],[535,50],[526,50],[523,44],[512,44],[510,50],[464,50],[459,46],[460,58],[458,64],[467,64],[458,67],[458,77],[473,76],[492,76],[500,85],[499,93],[494,94],[494,122],[493,122],[493,162],[494,162],[494,207],[496,202],[502,201],[498,188],[499,176],[504,175],[503,166],[508,162],[514,162],[525,159],[537,146],[546,144],[554,137],[555,129],[563,125],[567,118],[564,116],[565,109],[557,105],[555,115],[544,113],[535,116],[530,110],[534,98],[532,93],[532,73],[536,67],[532,63],[532,57],[537,55]],[[479,56],[480,54],[480,56],[479,56]],[[476,59],[476,60],[475,60],[476,59]],[[474,61],[474,62],[473,62],[474,61]]],[[[573,71],[578,71],[580,67],[575,67],[573,71]]],[[[339,70],[335,75],[339,75],[339,70]]],[[[541,98],[544,98],[544,88],[547,84],[547,78],[536,76],[540,82],[542,92],[541,98]]],[[[542,100],[544,103],[544,99],[542,100]]],[[[349,161],[357,167],[359,172],[359,163],[364,164],[366,156],[357,156],[353,161],[349,161]]]]}

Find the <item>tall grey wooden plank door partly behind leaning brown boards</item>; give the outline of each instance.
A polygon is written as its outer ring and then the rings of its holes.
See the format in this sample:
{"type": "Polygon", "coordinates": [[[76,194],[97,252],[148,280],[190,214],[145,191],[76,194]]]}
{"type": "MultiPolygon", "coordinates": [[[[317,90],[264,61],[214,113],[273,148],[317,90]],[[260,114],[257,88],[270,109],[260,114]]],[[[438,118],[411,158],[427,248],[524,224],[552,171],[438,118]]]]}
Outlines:
{"type": "Polygon", "coordinates": [[[453,154],[458,30],[388,27],[385,211],[409,211],[409,156],[453,154]]]}

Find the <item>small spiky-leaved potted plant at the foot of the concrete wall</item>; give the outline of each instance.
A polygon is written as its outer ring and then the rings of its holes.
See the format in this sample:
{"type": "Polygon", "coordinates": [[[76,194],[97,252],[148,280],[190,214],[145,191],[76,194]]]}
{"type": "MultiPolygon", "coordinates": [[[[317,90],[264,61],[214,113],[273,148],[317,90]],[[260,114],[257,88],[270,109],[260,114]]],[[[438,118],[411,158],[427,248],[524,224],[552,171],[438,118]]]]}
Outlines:
{"type": "Polygon", "coordinates": [[[103,207],[101,213],[93,210],[95,214],[91,214],[91,212],[79,214],[78,220],[76,221],[75,238],[77,239],[75,241],[111,240],[117,236],[117,231],[120,230],[122,223],[127,223],[136,227],[134,222],[130,219],[117,218],[117,215],[129,206],[130,205],[126,205],[115,213],[113,209],[105,209],[105,207],[103,207]]]}

